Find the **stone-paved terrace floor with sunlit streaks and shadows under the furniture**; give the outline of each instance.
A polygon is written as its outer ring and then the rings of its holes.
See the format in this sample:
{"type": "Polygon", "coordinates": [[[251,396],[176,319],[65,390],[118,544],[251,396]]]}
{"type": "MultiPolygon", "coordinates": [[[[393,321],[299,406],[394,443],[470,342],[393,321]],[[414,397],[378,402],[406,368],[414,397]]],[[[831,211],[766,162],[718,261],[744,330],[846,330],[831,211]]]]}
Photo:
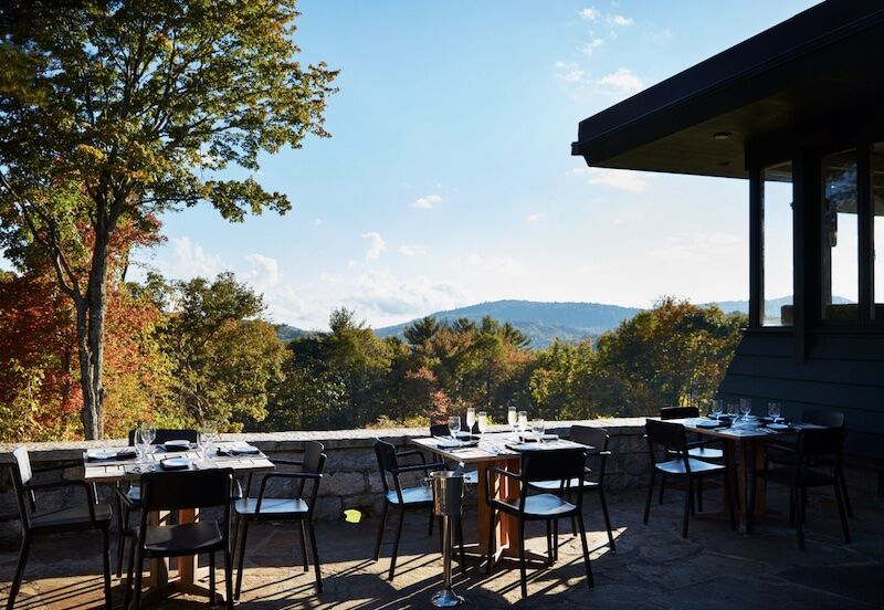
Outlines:
{"type": "MultiPolygon", "coordinates": [[[[707,490],[707,505],[715,493],[707,490]]],[[[807,524],[807,553],[798,550],[788,527],[788,498],[768,494],[768,514],[753,535],[738,535],[726,522],[692,519],[682,539],[682,495],[673,487],[666,502],[654,504],[649,526],[641,523],[643,493],[610,497],[617,527],[617,553],[609,553],[594,498],[589,496],[586,520],[592,551],[596,588],[587,588],[580,544],[562,525],[559,560],[552,568],[539,562],[528,568],[529,597],[522,600],[517,565],[504,561],[491,577],[476,569],[477,555],[466,575],[456,571],[455,589],[469,608],[593,608],[593,609],[718,609],[884,608],[884,501],[854,497],[851,519],[853,544],[841,538],[838,512],[831,497],[811,494],[807,524]]],[[[707,506],[708,507],[708,506],[707,506]]],[[[464,522],[467,543],[475,539],[475,508],[464,522]]],[[[430,598],[441,586],[442,562],[438,537],[428,537],[427,519],[407,516],[399,567],[393,582],[386,572],[393,528],[387,528],[381,559],[369,559],[377,520],[360,524],[322,523],[317,527],[325,592],[317,596],[313,571],[292,568],[301,562],[297,536],[283,526],[250,529],[243,599],[240,607],[255,610],[299,608],[400,609],[431,608],[430,598]]],[[[543,551],[540,528],[529,530],[529,548],[543,551]]],[[[23,610],[86,609],[102,604],[97,536],[65,536],[34,546],[25,582],[15,608],[23,610]]],[[[0,551],[0,603],[6,604],[15,549],[0,551]]],[[[221,574],[219,572],[219,576],[221,574]]],[[[122,590],[115,579],[115,596],[122,590]]],[[[204,608],[204,600],[176,597],[152,608],[204,608]]]]}

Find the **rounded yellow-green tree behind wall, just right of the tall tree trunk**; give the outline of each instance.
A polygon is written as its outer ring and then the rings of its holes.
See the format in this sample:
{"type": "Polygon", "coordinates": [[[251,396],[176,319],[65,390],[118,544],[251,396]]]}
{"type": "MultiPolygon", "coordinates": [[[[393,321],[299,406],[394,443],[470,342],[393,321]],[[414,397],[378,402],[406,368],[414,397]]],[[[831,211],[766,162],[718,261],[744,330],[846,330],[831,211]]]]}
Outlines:
{"type": "Polygon", "coordinates": [[[166,345],[173,362],[175,417],[236,431],[261,421],[282,380],[285,348],[261,319],[259,295],[231,273],[172,284],[166,345]]]}

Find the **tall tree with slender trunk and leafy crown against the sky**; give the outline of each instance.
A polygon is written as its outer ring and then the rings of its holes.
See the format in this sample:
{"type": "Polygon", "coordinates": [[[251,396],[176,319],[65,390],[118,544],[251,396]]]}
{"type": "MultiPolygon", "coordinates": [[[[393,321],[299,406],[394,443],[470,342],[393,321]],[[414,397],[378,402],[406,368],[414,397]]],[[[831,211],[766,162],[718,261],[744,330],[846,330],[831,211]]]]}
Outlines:
{"type": "MultiPolygon", "coordinates": [[[[259,155],[326,137],[336,72],[302,66],[295,0],[11,0],[0,8],[0,245],[73,303],[87,439],[101,438],[108,263],[118,229],[199,202],[284,213],[259,155]]],[[[128,256],[128,246],[117,255],[128,256]]],[[[125,265],[124,265],[125,266],[125,265]]]]}

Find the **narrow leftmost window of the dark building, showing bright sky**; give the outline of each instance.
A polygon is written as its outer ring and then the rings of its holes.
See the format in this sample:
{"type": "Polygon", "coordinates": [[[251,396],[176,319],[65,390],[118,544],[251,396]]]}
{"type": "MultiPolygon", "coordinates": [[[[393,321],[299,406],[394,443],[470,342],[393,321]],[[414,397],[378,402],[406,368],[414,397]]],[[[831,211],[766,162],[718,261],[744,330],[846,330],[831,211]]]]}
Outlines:
{"type": "Polygon", "coordinates": [[[792,164],[765,168],[761,240],[764,326],[792,325],[792,164]]]}

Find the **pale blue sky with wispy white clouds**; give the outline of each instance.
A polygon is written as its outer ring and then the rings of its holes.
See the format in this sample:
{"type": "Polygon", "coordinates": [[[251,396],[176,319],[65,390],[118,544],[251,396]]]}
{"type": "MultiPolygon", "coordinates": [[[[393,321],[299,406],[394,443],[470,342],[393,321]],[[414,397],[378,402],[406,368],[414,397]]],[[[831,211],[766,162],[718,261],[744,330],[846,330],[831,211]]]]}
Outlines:
{"type": "Polygon", "coordinates": [[[303,1],[304,61],[341,74],[333,137],[256,175],[294,209],[170,214],[138,260],[232,270],[305,328],[337,306],[377,327],[498,298],[746,298],[745,182],[589,170],[570,143],[580,119],[813,3],[303,1]]]}

